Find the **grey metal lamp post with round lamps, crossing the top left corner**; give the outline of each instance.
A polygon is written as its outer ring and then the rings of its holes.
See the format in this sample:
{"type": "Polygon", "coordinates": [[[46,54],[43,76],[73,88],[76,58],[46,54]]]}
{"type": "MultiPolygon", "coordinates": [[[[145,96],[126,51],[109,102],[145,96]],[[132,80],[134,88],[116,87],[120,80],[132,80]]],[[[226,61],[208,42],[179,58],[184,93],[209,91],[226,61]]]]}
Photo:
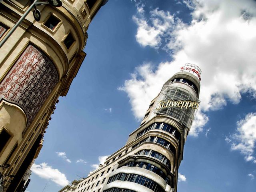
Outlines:
{"type": "Polygon", "coordinates": [[[62,2],[60,0],[47,0],[44,2],[38,2],[38,0],[34,0],[32,2],[32,4],[30,5],[30,7],[26,10],[26,12],[24,12],[24,14],[21,16],[21,18],[18,20],[18,22],[11,28],[11,30],[6,34],[6,36],[4,36],[4,38],[1,40],[0,42],[0,48],[2,47],[2,45],[6,42],[6,40],[12,35],[12,33],[14,32],[14,30],[20,25],[20,23],[26,18],[26,16],[28,15],[28,13],[32,10],[32,8],[34,8],[33,11],[33,16],[34,19],[36,21],[39,21],[41,18],[41,13],[40,11],[36,8],[36,6],[40,6],[40,5],[46,5],[46,4],[50,4],[54,7],[60,7],[62,6],[62,2]]]}

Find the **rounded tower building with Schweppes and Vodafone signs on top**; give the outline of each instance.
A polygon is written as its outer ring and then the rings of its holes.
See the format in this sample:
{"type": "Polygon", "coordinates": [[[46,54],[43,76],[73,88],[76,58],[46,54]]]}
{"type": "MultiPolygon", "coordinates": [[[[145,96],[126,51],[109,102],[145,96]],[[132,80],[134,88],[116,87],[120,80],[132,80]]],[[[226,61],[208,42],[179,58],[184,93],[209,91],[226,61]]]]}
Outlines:
{"type": "Polygon", "coordinates": [[[154,98],[126,145],[59,192],[176,192],[178,168],[199,106],[201,70],[186,64],[154,98]]]}

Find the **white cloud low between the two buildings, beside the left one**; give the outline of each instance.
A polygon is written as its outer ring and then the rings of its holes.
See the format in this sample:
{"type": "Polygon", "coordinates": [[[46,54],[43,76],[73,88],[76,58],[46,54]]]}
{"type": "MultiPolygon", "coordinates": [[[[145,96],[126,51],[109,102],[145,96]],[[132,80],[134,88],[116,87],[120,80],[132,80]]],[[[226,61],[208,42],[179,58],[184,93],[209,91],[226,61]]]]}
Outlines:
{"type": "Polygon", "coordinates": [[[51,166],[48,166],[45,162],[39,165],[34,163],[31,167],[31,170],[39,177],[52,180],[54,183],[60,186],[66,186],[69,183],[65,174],[60,172],[58,169],[54,169],[51,166]]]}

